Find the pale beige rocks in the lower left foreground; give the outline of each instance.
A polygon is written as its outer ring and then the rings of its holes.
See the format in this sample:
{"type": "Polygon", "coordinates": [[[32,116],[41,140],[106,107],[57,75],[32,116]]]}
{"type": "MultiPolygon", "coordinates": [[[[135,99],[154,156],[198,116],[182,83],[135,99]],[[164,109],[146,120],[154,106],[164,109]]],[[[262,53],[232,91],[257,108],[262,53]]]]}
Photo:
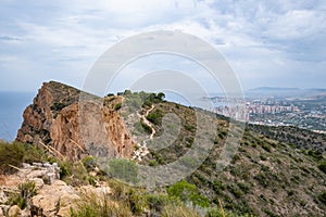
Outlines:
{"type": "Polygon", "coordinates": [[[101,197],[111,193],[111,188],[104,182],[75,188],[68,186],[60,180],[57,163],[24,163],[22,168],[16,169],[16,174],[0,177],[0,216],[71,216],[71,208],[77,208],[76,205],[83,195],[95,194],[101,197]],[[33,187],[22,189],[22,184],[28,183],[33,187]],[[13,193],[26,197],[23,209],[18,205],[5,205],[13,193]]]}

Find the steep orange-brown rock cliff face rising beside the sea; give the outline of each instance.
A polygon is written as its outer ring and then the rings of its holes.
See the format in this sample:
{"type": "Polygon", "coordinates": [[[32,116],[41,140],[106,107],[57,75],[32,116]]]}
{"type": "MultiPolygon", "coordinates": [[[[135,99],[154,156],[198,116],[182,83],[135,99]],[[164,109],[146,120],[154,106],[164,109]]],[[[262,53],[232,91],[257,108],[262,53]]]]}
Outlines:
{"type": "Polygon", "coordinates": [[[129,157],[135,142],[115,111],[123,98],[82,102],[79,94],[73,87],[45,82],[24,112],[16,141],[54,148],[73,161],[86,154],[129,157]]]}

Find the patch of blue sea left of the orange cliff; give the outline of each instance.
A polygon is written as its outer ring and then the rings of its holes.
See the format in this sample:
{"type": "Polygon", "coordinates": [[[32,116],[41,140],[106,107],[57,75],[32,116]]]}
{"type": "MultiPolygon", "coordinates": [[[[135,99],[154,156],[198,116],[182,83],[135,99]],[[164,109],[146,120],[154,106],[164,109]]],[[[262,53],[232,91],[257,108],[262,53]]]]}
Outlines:
{"type": "Polygon", "coordinates": [[[23,112],[35,92],[0,92],[0,139],[15,140],[23,123],[23,112]]]}

